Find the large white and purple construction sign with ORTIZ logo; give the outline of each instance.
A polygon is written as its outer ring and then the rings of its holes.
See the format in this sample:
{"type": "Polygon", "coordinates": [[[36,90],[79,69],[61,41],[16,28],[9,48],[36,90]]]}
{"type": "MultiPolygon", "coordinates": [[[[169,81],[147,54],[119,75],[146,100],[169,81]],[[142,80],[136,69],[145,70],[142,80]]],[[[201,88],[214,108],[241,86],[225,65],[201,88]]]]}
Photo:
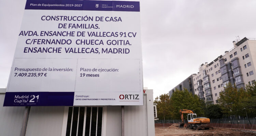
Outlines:
{"type": "Polygon", "coordinates": [[[143,105],[140,4],[27,0],[4,106],[143,105]]]}

